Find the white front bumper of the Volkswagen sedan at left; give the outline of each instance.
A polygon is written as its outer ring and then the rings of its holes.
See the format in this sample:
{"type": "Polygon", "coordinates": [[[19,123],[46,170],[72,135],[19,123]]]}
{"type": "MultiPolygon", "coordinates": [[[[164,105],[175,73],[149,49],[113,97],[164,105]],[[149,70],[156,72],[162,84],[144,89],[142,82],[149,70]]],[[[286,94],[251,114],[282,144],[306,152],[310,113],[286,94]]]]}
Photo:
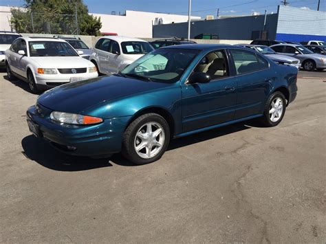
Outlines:
{"type": "Polygon", "coordinates": [[[56,87],[71,82],[71,78],[88,80],[96,77],[98,77],[98,72],[83,74],[36,74],[35,81],[38,87],[56,87]]]}

